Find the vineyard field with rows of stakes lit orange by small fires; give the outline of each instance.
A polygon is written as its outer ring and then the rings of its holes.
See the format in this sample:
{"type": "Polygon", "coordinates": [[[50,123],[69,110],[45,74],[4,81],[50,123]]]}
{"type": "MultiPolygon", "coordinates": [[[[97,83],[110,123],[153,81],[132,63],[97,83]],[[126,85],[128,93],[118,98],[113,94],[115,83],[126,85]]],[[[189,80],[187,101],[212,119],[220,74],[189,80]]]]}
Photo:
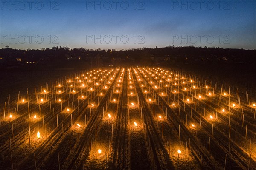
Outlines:
{"type": "Polygon", "coordinates": [[[164,68],[35,75],[3,85],[0,169],[256,168],[255,90],[164,68]]]}

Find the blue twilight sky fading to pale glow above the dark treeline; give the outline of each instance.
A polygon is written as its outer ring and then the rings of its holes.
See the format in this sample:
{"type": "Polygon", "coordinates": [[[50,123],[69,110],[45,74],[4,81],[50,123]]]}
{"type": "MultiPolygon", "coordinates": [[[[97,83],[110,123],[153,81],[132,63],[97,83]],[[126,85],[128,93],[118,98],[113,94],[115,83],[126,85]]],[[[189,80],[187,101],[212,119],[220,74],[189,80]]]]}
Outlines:
{"type": "Polygon", "coordinates": [[[0,48],[256,49],[254,0],[0,0],[0,48]]]}

